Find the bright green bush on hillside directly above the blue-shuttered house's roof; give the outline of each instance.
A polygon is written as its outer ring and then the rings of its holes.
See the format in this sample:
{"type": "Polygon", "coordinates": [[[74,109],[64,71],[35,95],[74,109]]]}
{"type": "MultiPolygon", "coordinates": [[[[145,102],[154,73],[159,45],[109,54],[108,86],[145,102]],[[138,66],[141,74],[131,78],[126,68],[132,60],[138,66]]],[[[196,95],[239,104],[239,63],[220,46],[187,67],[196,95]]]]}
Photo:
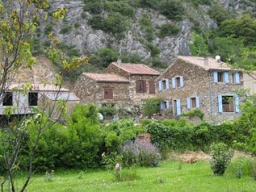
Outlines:
{"type": "Polygon", "coordinates": [[[208,44],[204,42],[204,38],[199,35],[192,33],[193,44],[190,44],[189,48],[193,56],[208,56],[208,44]]]}

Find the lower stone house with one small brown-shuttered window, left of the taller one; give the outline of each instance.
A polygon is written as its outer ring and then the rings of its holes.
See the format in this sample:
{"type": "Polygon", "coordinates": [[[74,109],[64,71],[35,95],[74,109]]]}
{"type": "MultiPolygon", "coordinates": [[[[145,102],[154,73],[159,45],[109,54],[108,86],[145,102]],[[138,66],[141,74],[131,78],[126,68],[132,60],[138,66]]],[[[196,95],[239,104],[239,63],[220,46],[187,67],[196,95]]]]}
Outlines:
{"type": "Polygon", "coordinates": [[[82,73],[74,91],[84,104],[120,105],[130,103],[129,80],[117,74],[82,73]]]}

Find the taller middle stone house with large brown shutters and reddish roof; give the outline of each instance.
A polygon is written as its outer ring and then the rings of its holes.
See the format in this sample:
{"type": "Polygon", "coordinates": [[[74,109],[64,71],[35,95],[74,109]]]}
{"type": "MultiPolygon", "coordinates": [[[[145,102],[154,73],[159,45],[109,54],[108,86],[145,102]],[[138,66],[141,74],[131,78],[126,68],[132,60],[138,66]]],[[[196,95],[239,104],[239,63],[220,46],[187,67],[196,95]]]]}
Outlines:
{"type": "Polygon", "coordinates": [[[147,65],[112,62],[107,66],[104,73],[115,73],[128,79],[131,104],[141,103],[146,98],[156,97],[155,79],[160,73],[147,65]]]}

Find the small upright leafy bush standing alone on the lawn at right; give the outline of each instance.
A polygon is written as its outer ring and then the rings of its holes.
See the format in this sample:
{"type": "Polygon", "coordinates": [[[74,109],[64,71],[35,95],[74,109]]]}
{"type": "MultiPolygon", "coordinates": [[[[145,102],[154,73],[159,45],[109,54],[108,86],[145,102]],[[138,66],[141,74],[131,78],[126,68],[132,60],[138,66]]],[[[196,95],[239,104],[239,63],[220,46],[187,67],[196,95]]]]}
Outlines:
{"type": "Polygon", "coordinates": [[[233,150],[229,149],[224,143],[211,145],[211,169],[214,174],[222,176],[228,168],[229,162],[233,157],[233,150]]]}

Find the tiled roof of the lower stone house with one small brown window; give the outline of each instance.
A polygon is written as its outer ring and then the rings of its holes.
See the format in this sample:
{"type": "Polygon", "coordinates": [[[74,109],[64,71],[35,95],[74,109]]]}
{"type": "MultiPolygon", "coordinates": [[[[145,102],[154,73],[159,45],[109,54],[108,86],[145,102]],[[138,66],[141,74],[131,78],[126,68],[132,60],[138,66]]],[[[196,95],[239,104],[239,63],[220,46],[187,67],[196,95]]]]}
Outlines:
{"type": "Polygon", "coordinates": [[[129,82],[128,79],[110,73],[82,73],[97,82],[129,82]]]}

